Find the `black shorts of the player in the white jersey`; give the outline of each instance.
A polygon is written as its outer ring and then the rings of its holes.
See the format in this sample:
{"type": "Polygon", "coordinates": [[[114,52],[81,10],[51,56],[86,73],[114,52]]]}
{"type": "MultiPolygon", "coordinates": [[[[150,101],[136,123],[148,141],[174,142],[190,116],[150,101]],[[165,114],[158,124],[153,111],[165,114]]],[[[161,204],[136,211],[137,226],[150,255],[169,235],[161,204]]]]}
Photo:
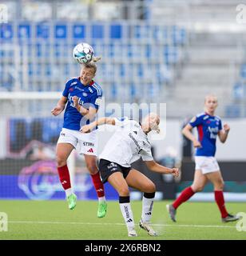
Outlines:
{"type": "Polygon", "coordinates": [[[131,167],[120,166],[116,162],[110,162],[105,159],[101,159],[99,162],[99,171],[101,174],[102,183],[107,182],[109,176],[117,171],[120,171],[123,174],[123,177],[126,178],[131,169],[131,167]]]}

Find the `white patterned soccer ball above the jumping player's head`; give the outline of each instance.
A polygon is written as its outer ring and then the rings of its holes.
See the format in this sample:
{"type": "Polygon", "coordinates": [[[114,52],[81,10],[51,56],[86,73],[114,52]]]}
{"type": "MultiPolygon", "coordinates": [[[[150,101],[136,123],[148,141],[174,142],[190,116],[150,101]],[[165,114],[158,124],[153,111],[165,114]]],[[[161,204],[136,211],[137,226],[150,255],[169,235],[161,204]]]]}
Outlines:
{"type": "Polygon", "coordinates": [[[94,54],[93,47],[86,42],[81,42],[73,48],[73,58],[80,64],[88,63],[94,54]]]}

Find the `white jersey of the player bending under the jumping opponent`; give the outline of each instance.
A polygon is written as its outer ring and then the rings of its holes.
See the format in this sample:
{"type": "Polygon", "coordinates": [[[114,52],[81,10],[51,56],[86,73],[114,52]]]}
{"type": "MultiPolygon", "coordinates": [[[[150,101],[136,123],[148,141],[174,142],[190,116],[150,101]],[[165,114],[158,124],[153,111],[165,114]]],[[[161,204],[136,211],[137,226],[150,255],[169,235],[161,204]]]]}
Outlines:
{"type": "Polygon", "coordinates": [[[130,167],[139,158],[144,161],[153,160],[147,134],[138,122],[129,118],[115,118],[115,125],[118,128],[105,145],[100,159],[116,162],[124,167],[130,167]]]}

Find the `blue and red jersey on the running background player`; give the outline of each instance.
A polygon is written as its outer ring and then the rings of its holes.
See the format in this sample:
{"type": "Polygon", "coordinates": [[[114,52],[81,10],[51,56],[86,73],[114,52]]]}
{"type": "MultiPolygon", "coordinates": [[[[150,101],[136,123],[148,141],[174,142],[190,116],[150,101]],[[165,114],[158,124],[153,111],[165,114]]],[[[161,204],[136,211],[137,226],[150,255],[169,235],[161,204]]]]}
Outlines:
{"type": "Polygon", "coordinates": [[[196,156],[214,157],[216,154],[216,136],[222,130],[221,119],[202,113],[192,118],[189,124],[192,127],[197,127],[198,140],[202,146],[196,149],[196,156]]]}

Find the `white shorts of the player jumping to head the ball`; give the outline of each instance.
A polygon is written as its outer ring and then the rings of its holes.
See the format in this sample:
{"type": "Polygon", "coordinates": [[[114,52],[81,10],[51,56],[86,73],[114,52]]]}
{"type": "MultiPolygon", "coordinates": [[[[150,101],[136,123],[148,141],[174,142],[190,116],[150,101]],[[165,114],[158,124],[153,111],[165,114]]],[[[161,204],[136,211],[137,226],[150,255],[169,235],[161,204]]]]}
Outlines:
{"type": "Polygon", "coordinates": [[[58,143],[72,144],[78,154],[97,156],[97,130],[93,130],[89,134],[82,134],[78,130],[62,128],[58,143]]]}

